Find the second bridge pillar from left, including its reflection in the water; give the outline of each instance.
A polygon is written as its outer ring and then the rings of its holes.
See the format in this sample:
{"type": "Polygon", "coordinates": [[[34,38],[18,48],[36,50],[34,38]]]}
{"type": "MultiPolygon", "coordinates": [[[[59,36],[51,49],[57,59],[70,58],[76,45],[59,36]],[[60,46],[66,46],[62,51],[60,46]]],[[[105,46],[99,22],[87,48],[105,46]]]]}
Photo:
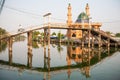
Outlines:
{"type": "Polygon", "coordinates": [[[28,67],[32,67],[32,31],[28,35],[28,67]]]}

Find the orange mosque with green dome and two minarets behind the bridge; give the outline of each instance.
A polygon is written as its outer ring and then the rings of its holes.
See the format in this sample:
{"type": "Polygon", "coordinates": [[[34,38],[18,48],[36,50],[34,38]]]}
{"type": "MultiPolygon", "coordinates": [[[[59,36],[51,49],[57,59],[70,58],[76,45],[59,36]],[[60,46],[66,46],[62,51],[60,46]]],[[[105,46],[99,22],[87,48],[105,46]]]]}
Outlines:
{"type": "MultiPolygon", "coordinates": [[[[85,8],[86,12],[82,12],[79,14],[77,20],[75,23],[72,23],[72,13],[71,13],[71,5],[69,4],[68,6],[68,19],[67,19],[67,25],[68,27],[74,27],[74,28],[93,28],[96,30],[100,29],[101,23],[90,23],[90,13],[89,13],[89,5],[86,4],[85,8]]],[[[82,38],[83,30],[68,30],[67,31],[67,36],[68,38],[73,38],[73,39],[80,39],[82,38]]]]}

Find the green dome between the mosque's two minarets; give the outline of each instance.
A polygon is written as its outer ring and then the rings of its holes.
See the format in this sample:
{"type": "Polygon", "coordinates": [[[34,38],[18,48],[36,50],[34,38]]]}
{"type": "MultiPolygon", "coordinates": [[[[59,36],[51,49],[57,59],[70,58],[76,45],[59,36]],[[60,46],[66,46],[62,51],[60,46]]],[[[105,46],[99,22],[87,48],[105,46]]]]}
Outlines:
{"type": "Polygon", "coordinates": [[[82,12],[79,14],[76,23],[88,23],[89,22],[89,17],[87,16],[87,14],[85,12],[82,12]]]}

